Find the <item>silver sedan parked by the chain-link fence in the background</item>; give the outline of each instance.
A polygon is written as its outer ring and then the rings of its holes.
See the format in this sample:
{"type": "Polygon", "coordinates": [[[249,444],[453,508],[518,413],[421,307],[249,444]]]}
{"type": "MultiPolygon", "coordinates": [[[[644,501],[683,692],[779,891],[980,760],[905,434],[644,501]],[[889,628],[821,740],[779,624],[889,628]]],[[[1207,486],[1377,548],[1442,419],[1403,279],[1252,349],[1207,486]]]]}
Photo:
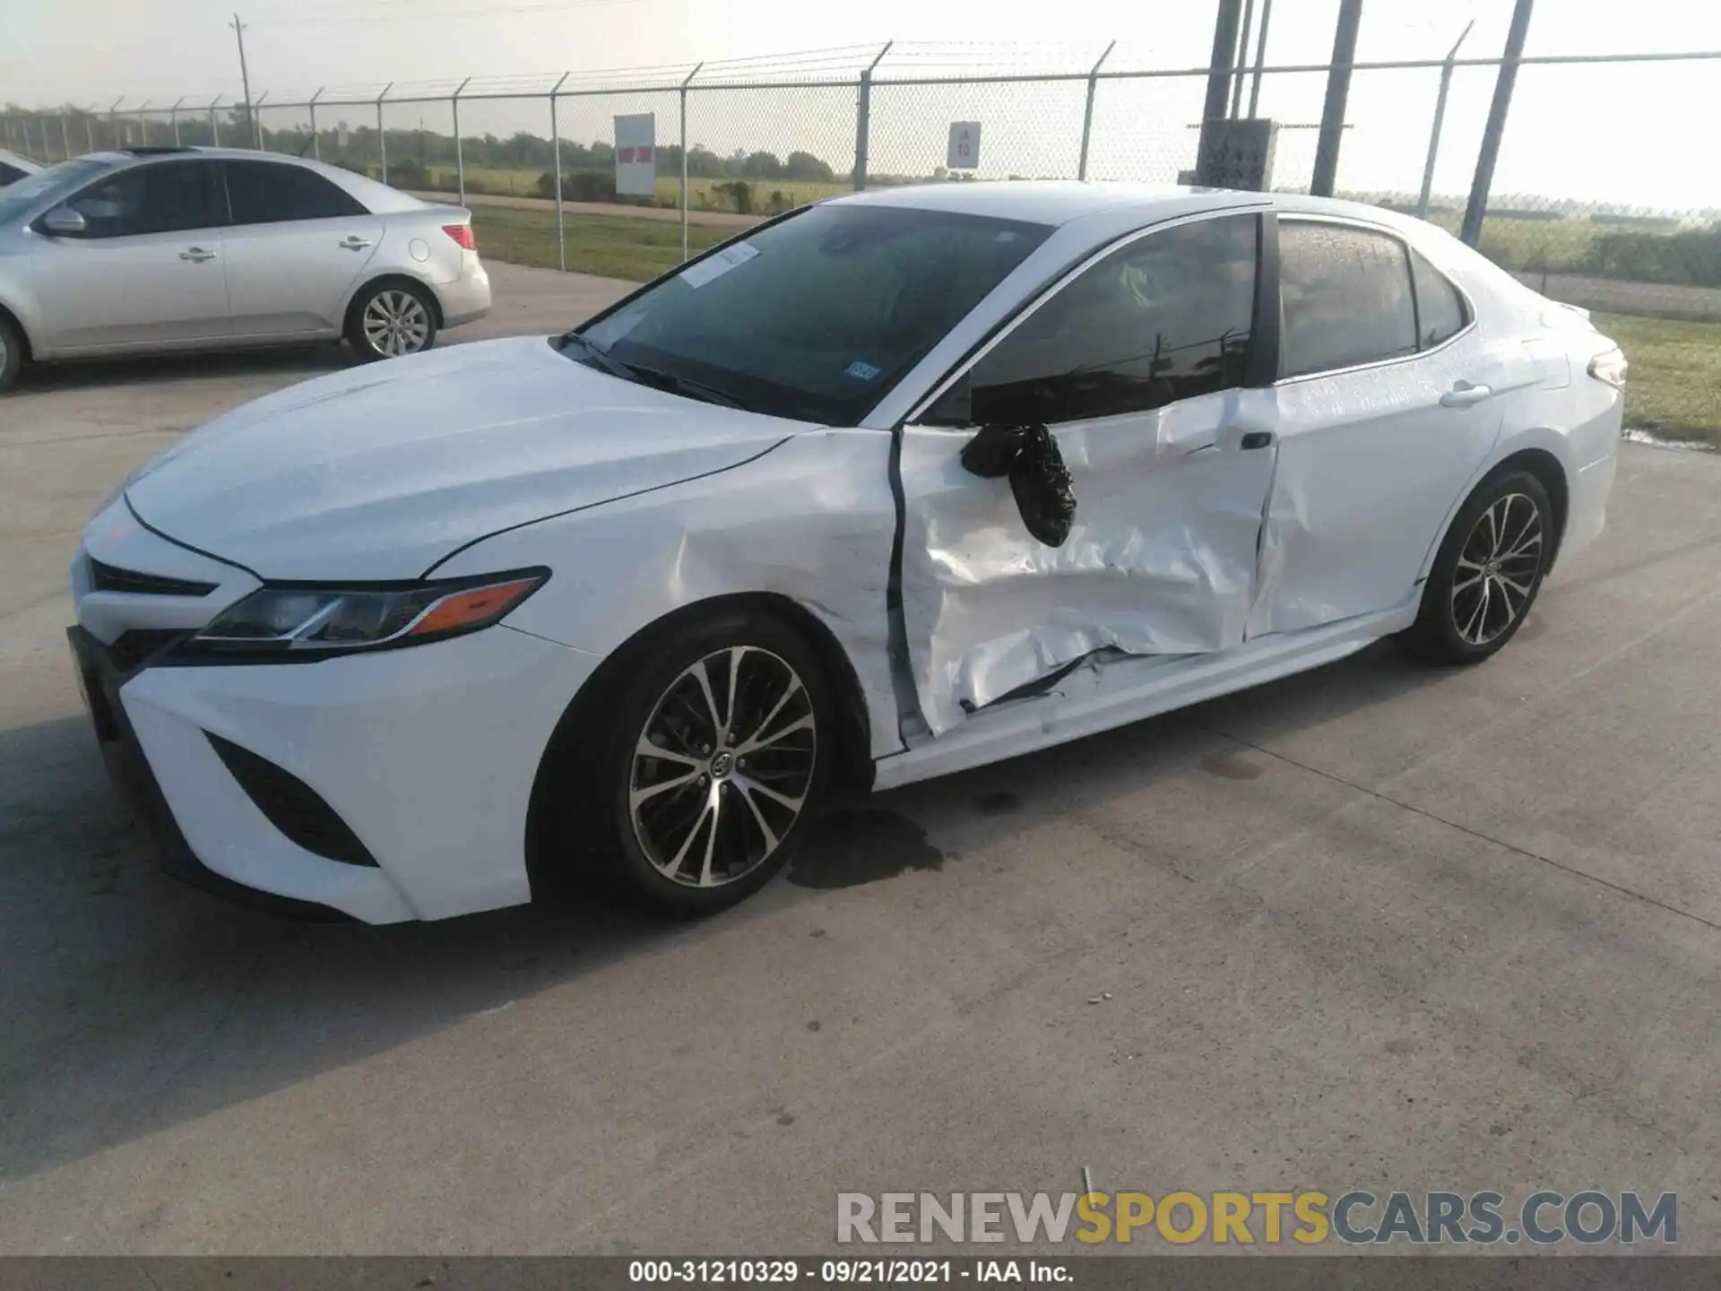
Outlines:
{"type": "Polygon", "coordinates": [[[133,148],[0,191],[0,391],[24,363],[346,337],[430,348],[490,310],[472,212],[227,148],[133,148]]]}

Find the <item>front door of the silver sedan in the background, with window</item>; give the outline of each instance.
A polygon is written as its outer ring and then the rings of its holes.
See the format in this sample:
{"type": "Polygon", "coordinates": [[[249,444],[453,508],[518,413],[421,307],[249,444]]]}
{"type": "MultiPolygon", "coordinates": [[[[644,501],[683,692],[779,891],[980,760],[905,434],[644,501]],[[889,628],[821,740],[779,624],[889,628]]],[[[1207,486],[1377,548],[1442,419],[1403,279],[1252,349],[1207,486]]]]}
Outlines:
{"type": "Polygon", "coordinates": [[[31,270],[55,353],[157,346],[227,334],[219,174],[172,158],[96,179],[64,205],[79,238],[38,232],[31,270]]]}

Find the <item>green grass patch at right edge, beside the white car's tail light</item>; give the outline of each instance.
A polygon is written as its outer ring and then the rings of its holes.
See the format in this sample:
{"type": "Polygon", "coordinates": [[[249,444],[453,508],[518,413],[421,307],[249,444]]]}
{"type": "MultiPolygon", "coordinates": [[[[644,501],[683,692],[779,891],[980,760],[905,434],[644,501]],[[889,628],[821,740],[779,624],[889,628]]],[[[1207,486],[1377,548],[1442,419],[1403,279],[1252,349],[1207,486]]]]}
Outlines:
{"type": "Polygon", "coordinates": [[[1594,320],[1632,365],[1626,425],[1721,448],[1721,324],[1623,313],[1597,313],[1594,320]]]}

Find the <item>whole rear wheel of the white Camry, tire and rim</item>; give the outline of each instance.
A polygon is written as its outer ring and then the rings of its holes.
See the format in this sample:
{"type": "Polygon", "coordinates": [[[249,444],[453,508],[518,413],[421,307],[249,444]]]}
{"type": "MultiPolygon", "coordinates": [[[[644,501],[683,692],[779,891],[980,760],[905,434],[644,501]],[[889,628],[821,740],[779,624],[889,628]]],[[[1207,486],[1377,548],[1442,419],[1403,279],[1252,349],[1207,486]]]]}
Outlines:
{"type": "Polygon", "coordinates": [[[1552,553],[1542,482],[1521,470],[1484,480],[1440,544],[1408,642],[1434,663],[1482,663],[1523,627],[1552,553]]]}

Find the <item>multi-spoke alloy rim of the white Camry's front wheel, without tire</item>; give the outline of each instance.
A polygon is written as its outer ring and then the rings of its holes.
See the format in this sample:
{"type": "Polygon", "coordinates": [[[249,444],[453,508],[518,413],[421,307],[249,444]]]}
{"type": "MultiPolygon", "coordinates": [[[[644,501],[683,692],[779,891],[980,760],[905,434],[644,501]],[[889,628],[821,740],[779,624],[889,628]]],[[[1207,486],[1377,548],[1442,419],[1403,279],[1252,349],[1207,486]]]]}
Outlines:
{"type": "Polygon", "coordinates": [[[685,668],[633,745],[628,818],[664,878],[714,888],[752,873],[800,819],[817,764],[812,695],[771,651],[685,668]]]}

